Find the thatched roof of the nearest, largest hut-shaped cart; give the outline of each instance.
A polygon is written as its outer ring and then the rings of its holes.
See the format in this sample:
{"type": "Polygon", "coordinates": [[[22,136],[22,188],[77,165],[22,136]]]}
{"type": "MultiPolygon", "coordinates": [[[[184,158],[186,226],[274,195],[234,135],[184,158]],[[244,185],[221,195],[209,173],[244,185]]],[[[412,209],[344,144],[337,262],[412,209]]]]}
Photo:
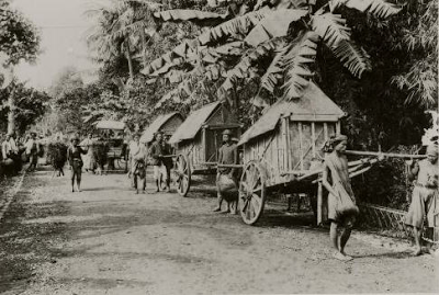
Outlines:
{"type": "Polygon", "coordinates": [[[345,116],[338,107],[315,83],[309,82],[300,99],[279,101],[240,137],[238,145],[271,132],[282,116],[290,116],[291,121],[302,122],[336,122],[345,116]]]}

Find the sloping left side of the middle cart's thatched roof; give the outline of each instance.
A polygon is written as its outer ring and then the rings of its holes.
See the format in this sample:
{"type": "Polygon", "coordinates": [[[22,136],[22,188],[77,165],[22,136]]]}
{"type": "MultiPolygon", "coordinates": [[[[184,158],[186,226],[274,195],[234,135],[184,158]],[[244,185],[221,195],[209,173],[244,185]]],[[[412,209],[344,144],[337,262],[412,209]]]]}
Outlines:
{"type": "Polygon", "coordinates": [[[194,138],[203,124],[219,105],[221,102],[213,102],[193,112],[176,131],[176,133],[169,139],[169,143],[177,144],[185,139],[194,138]]]}

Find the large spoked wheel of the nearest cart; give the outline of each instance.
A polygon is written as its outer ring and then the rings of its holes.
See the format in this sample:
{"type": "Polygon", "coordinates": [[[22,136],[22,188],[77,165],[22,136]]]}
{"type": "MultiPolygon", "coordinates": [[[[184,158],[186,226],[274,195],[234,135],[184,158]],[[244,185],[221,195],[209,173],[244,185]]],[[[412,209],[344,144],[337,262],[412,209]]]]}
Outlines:
{"type": "Polygon", "coordinates": [[[250,161],[239,183],[239,212],[243,220],[254,225],[262,215],[266,202],[266,173],[258,161],[250,161]]]}

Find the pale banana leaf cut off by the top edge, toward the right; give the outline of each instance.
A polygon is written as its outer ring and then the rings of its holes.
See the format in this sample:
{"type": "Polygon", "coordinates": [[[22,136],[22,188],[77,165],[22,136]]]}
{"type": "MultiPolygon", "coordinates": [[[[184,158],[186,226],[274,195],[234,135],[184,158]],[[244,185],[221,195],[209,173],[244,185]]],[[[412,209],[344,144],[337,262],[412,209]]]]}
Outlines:
{"type": "Polygon", "coordinates": [[[384,0],[330,0],[330,11],[345,5],[347,8],[356,9],[361,12],[371,13],[378,18],[386,19],[393,14],[398,13],[402,7],[390,3],[384,0]]]}

